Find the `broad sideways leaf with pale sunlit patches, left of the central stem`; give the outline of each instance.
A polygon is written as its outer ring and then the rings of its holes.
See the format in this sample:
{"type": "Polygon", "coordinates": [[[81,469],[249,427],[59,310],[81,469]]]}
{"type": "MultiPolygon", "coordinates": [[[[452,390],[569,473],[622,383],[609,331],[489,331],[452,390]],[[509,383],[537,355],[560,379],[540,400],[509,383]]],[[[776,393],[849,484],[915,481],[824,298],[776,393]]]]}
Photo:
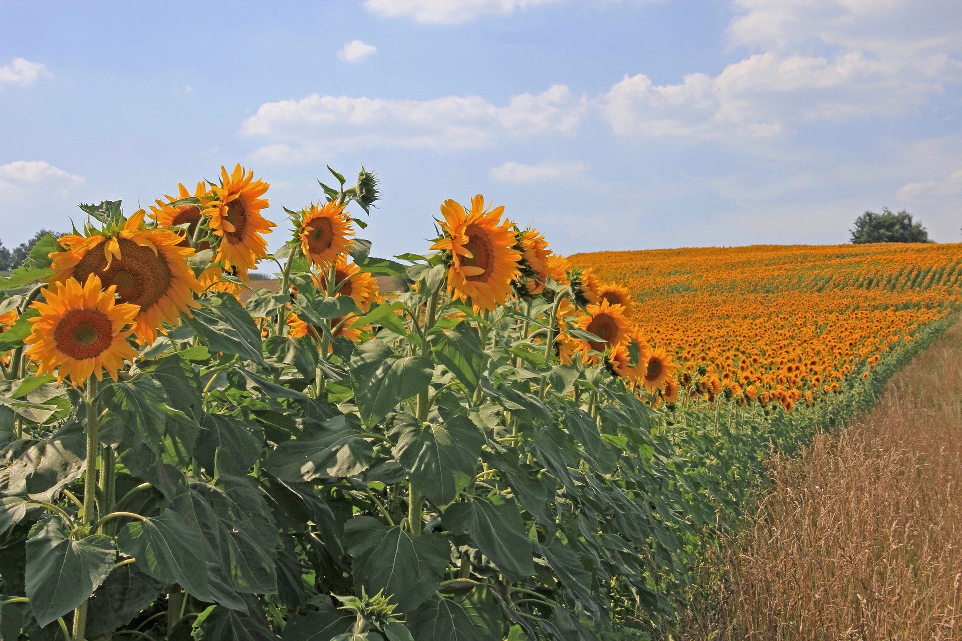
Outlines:
{"type": "Polygon", "coordinates": [[[350,477],[366,470],[373,459],[364,432],[345,429],[321,432],[278,444],[264,469],[281,481],[299,482],[350,477]]]}

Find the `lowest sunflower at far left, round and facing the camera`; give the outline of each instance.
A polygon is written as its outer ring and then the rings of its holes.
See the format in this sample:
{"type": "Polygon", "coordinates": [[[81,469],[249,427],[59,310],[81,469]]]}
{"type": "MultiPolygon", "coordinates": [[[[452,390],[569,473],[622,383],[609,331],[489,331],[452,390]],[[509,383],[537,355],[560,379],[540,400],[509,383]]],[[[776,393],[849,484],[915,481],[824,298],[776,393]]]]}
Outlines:
{"type": "Polygon", "coordinates": [[[41,290],[43,301],[35,301],[39,316],[24,343],[30,345],[27,357],[38,362],[40,372],[57,371],[57,382],[69,377],[74,386],[83,386],[90,375],[103,378],[104,370],[116,381],[124,360],[137,355],[127,337],[134,328],[139,307],[114,300],[116,285],[106,290],[100,279],[90,274],[85,284],[68,278],[41,290]]]}

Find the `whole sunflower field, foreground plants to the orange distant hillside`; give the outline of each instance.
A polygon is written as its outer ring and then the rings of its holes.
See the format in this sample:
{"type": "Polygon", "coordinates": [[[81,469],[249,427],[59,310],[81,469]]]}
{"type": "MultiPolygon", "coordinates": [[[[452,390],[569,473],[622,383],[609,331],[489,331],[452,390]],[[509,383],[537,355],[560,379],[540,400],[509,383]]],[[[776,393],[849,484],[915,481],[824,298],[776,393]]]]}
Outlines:
{"type": "Polygon", "coordinates": [[[239,165],[0,281],[0,639],[657,637],[960,302],[957,246],[572,265],[480,195],[375,258],[331,173],[274,253],[239,165]]]}

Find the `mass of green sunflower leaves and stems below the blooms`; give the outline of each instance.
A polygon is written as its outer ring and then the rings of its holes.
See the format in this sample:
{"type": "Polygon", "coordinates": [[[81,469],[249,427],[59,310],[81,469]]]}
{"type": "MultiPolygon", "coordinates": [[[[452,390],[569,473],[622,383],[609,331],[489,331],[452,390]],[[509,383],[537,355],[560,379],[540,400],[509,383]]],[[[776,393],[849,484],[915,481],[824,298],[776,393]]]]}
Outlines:
{"type": "MultiPolygon", "coordinates": [[[[334,175],[335,196],[372,205],[372,179],[347,194],[334,175]]],[[[90,213],[116,222],[118,207],[90,213]]],[[[792,414],[654,409],[603,366],[558,362],[551,301],[478,314],[443,294],[437,257],[403,267],[353,249],[417,288],[362,313],[318,288],[291,243],[279,258],[296,298],[201,295],[115,382],[4,370],[2,638],[54,638],[84,603],[88,637],[654,638],[765,457],[867,407],[942,329],[792,414]],[[292,336],[289,310],[316,333],[292,336]],[[338,335],[351,313],[359,342],[338,335]]],[[[25,274],[6,304],[24,300],[25,274]]],[[[28,331],[0,334],[0,350],[28,331]]]]}

